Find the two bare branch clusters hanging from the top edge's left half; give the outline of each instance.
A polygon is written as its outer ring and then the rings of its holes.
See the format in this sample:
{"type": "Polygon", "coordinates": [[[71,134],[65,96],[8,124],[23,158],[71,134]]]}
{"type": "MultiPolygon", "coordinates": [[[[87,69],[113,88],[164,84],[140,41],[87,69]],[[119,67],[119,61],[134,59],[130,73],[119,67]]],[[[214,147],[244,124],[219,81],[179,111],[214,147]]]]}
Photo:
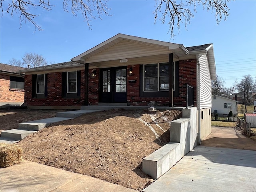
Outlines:
{"type": "MultiPolygon", "coordinates": [[[[53,2],[53,0],[51,0],[51,2],[53,2]]],[[[51,4],[50,0],[0,0],[0,11],[2,12],[2,15],[4,14],[4,11],[11,14],[11,16],[13,16],[13,14],[18,14],[20,27],[22,26],[22,22],[30,22],[38,30],[43,29],[36,23],[35,18],[38,15],[33,13],[32,10],[42,8],[43,10],[50,11],[52,10],[52,7],[54,7],[54,4],[51,4]],[[4,4],[4,2],[6,3],[4,4]]],[[[90,21],[96,18],[95,15],[98,15],[98,17],[101,18],[102,15],[109,15],[108,10],[110,10],[106,0],[63,0],[64,11],[69,12],[69,8],[74,16],[76,16],[78,12],[81,12],[84,21],[87,22],[89,28],[90,21]]]]}

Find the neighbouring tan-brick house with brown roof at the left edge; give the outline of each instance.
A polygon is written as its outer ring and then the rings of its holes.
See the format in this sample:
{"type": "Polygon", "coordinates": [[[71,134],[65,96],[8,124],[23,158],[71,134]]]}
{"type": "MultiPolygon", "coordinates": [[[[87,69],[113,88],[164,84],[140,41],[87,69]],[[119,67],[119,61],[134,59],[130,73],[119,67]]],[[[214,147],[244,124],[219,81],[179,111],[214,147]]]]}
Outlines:
{"type": "Polygon", "coordinates": [[[0,106],[22,105],[24,103],[24,77],[17,72],[24,70],[0,63],[0,106]]]}

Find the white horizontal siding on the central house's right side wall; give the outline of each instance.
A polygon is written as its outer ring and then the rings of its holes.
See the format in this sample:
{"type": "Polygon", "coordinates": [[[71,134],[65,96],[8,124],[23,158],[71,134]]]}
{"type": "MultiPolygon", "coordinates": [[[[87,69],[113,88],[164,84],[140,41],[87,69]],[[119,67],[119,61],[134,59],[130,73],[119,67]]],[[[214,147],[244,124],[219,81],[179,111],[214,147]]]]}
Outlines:
{"type": "Polygon", "coordinates": [[[200,109],[212,107],[212,83],[206,54],[198,54],[200,65],[200,109]]]}

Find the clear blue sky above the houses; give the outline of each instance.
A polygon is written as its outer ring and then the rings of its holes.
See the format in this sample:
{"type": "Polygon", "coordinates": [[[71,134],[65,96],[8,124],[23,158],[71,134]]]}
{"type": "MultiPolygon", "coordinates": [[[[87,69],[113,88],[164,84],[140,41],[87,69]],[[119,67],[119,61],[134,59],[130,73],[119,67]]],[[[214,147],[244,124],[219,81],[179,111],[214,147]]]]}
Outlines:
{"type": "MultiPolygon", "coordinates": [[[[6,3],[8,1],[5,1],[6,3]]],[[[187,30],[183,26],[174,31],[174,39],[168,33],[169,26],[158,21],[154,24],[153,0],[110,0],[112,16],[92,20],[91,30],[79,14],[64,12],[62,1],[50,0],[50,12],[31,10],[39,14],[37,23],[43,31],[35,31],[30,23],[22,23],[18,16],[4,12],[0,18],[0,62],[8,64],[11,58],[22,60],[27,52],[41,54],[48,62],[70,61],[82,52],[122,33],[143,38],[196,46],[213,43],[216,74],[222,77],[226,87],[238,82],[244,75],[256,77],[256,1],[238,0],[228,3],[230,16],[217,25],[215,16],[198,7],[187,30]]]]}

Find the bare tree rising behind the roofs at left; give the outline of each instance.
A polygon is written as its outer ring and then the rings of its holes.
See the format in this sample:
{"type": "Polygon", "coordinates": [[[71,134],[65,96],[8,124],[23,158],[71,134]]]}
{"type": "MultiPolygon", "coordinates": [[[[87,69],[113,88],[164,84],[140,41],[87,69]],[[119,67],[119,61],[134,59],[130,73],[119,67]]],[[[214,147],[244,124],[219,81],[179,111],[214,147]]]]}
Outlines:
{"type": "Polygon", "coordinates": [[[42,55],[35,54],[35,53],[24,54],[24,56],[22,57],[22,60],[24,62],[24,65],[29,66],[29,68],[47,65],[46,59],[42,55]]]}

